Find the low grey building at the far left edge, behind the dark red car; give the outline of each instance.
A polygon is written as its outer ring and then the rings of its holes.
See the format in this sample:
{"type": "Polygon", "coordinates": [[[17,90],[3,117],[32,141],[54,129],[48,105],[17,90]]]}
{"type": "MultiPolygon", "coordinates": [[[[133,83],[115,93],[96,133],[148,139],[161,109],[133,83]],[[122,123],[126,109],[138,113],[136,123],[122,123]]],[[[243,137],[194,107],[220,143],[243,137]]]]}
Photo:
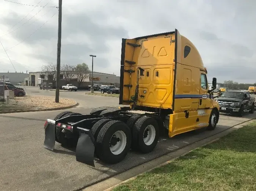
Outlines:
{"type": "Polygon", "coordinates": [[[1,72],[0,81],[3,81],[5,76],[5,82],[9,81],[11,84],[16,85],[17,83],[24,83],[24,79],[29,77],[29,74],[22,72],[1,72]]]}

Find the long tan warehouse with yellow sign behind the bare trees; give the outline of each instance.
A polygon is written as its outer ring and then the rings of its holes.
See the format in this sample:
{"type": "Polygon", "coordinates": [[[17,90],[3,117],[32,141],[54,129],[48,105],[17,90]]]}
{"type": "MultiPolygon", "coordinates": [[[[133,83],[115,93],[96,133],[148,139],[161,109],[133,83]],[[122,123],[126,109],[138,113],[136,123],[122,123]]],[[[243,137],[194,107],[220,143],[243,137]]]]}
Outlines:
{"type": "MultiPolygon", "coordinates": [[[[48,80],[50,77],[48,77],[45,72],[29,72],[29,77],[27,79],[24,79],[24,82],[28,86],[36,86],[38,85],[38,78],[48,80]]],[[[76,78],[74,76],[74,78],[76,78]]],[[[63,73],[60,72],[60,80],[63,79],[63,73]]],[[[84,80],[84,82],[87,82],[88,84],[91,84],[92,77],[90,74],[88,74],[88,77],[84,80]]],[[[107,74],[102,72],[93,72],[93,83],[99,83],[99,84],[119,84],[120,83],[120,77],[116,76],[115,74],[107,74]]]]}

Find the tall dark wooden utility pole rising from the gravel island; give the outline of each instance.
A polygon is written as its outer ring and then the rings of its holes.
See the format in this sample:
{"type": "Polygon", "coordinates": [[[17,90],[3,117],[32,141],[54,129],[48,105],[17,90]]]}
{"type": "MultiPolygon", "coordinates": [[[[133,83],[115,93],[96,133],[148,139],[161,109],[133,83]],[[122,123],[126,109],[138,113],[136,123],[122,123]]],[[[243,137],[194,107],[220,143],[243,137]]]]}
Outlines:
{"type": "Polygon", "coordinates": [[[58,16],[58,44],[57,44],[57,74],[56,74],[56,91],[55,102],[60,100],[60,49],[61,49],[61,21],[62,21],[62,0],[59,0],[58,16]]]}

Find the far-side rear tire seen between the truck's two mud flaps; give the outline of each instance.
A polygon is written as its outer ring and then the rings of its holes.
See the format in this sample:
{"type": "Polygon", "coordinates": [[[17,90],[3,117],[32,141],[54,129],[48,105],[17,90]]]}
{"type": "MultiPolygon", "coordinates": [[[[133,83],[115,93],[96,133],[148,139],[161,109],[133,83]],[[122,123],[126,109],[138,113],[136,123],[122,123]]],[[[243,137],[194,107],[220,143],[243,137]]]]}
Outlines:
{"type": "MultiPolygon", "coordinates": [[[[65,114],[63,117],[68,117],[68,116],[75,116],[75,115],[82,115],[80,113],[74,113],[74,112],[69,112],[67,114],[65,114]]],[[[73,133],[74,137],[72,138],[67,138],[65,133],[62,132],[62,128],[56,128],[55,129],[55,134],[56,134],[56,137],[57,137],[57,142],[64,145],[64,146],[69,146],[69,147],[73,147],[77,144],[77,141],[79,139],[79,134],[75,134],[73,133]]]]}

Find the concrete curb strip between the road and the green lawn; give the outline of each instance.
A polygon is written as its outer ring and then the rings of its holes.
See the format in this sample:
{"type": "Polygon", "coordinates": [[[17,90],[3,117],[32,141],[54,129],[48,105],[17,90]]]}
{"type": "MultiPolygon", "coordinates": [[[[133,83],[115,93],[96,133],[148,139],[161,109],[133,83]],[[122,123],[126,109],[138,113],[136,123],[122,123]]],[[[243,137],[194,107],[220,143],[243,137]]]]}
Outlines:
{"type": "Polygon", "coordinates": [[[243,127],[243,125],[247,125],[251,123],[255,119],[256,118],[253,118],[253,119],[244,121],[242,123],[236,124],[234,126],[231,126],[228,129],[225,129],[224,131],[218,132],[209,137],[205,137],[204,139],[201,139],[198,142],[194,142],[192,144],[186,145],[182,148],[177,149],[176,151],[170,152],[156,159],[153,159],[141,165],[135,166],[127,171],[124,171],[123,173],[116,174],[115,176],[109,177],[107,179],[103,179],[99,182],[96,182],[92,185],[88,185],[85,188],[81,188],[78,190],[79,191],[91,191],[91,190],[112,191],[112,189],[114,189],[115,187],[125,182],[128,182],[129,180],[136,179],[136,177],[139,176],[140,174],[151,171],[154,168],[166,165],[170,163],[172,160],[175,160],[181,156],[184,156],[188,152],[198,147],[208,145],[218,140],[220,137],[223,137],[226,134],[229,134],[230,132],[243,127]]]}

